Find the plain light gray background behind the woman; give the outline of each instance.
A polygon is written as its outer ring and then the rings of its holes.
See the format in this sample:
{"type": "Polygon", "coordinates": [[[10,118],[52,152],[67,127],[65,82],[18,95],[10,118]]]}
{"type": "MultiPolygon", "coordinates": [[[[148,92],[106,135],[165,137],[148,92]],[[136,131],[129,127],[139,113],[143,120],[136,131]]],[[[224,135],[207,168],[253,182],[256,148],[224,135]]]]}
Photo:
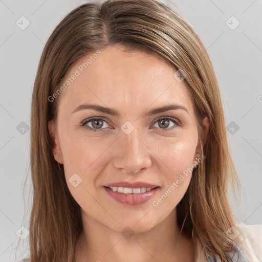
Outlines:
{"type": "MultiPolygon", "coordinates": [[[[229,125],[231,153],[243,187],[238,205],[231,198],[237,223],[262,224],[261,0],[163,2],[189,21],[213,62],[229,125]],[[240,24],[234,28],[237,21],[240,24]]],[[[20,227],[29,228],[32,194],[27,127],[33,83],[48,37],[81,3],[85,1],[0,0],[0,262],[20,261],[23,255],[19,254],[28,252],[29,237],[20,240],[14,259],[20,227]],[[21,16],[30,22],[25,30],[16,25],[21,16]]]]}

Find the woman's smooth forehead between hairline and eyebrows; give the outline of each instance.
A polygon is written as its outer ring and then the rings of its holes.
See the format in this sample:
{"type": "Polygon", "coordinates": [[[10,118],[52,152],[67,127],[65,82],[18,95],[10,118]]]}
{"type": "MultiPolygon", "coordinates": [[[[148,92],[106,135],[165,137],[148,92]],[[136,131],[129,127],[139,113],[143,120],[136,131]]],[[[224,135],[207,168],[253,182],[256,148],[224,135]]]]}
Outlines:
{"type": "Polygon", "coordinates": [[[119,46],[100,52],[86,55],[72,65],[67,77],[77,76],[63,91],[61,106],[74,110],[81,103],[96,102],[116,108],[119,105],[121,111],[123,107],[177,102],[192,112],[185,81],[177,81],[173,77],[176,70],[165,61],[141,51],[123,52],[119,46]]]}

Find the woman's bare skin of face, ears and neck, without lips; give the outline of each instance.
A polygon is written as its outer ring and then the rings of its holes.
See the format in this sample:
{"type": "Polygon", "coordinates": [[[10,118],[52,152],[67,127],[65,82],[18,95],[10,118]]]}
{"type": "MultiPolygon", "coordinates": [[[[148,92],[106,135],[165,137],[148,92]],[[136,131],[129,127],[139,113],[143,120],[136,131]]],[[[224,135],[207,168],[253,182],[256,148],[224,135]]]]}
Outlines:
{"type": "MultiPolygon", "coordinates": [[[[200,157],[197,150],[201,149],[193,103],[185,81],[177,81],[173,77],[176,70],[167,63],[148,53],[124,53],[123,49],[101,50],[59,97],[57,132],[53,120],[49,122],[54,157],[64,165],[69,190],[82,210],[84,230],[76,245],[76,262],[194,261],[193,242],[179,233],[176,223],[176,206],[188,188],[191,173],[158,207],[152,205],[186,168],[198,164],[195,157],[200,157]],[[90,109],[72,114],[82,103],[113,107],[121,116],[90,109]],[[170,103],[183,105],[188,113],[179,109],[143,115],[170,103]],[[106,120],[100,120],[104,132],[81,126],[91,117],[106,120]],[[161,117],[176,118],[183,126],[170,120],[161,128],[163,124],[157,121],[161,117]],[[121,130],[126,121],[135,128],[129,135],[121,130]],[[82,179],[77,187],[69,182],[74,173],[82,179]],[[160,188],[144,204],[124,205],[103,188],[119,181],[143,181],[160,188]],[[134,232],[128,239],[121,234],[127,226],[134,232]]],[[[75,62],[68,76],[89,56],[75,62]]],[[[95,129],[96,124],[91,121],[86,125],[95,129]]],[[[205,118],[206,134],[208,126],[205,118]]]]}

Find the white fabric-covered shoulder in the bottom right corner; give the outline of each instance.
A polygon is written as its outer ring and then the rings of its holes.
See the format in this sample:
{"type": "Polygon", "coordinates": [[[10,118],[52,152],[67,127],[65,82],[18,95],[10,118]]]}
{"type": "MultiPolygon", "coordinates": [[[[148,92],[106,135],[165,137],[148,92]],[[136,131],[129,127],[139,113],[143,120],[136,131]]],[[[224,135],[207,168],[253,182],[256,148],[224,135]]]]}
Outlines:
{"type": "Polygon", "coordinates": [[[262,258],[262,225],[237,225],[241,244],[239,248],[248,261],[261,261],[262,258]]]}

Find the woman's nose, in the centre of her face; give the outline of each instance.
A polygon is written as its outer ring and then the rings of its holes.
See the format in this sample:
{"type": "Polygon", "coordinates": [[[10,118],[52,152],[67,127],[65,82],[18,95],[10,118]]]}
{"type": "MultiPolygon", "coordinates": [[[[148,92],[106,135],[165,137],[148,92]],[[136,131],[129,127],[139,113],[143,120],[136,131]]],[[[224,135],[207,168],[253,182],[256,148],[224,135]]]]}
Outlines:
{"type": "Polygon", "coordinates": [[[135,130],[129,135],[122,134],[114,149],[115,168],[126,174],[137,174],[151,166],[152,151],[140,137],[135,130]]]}

